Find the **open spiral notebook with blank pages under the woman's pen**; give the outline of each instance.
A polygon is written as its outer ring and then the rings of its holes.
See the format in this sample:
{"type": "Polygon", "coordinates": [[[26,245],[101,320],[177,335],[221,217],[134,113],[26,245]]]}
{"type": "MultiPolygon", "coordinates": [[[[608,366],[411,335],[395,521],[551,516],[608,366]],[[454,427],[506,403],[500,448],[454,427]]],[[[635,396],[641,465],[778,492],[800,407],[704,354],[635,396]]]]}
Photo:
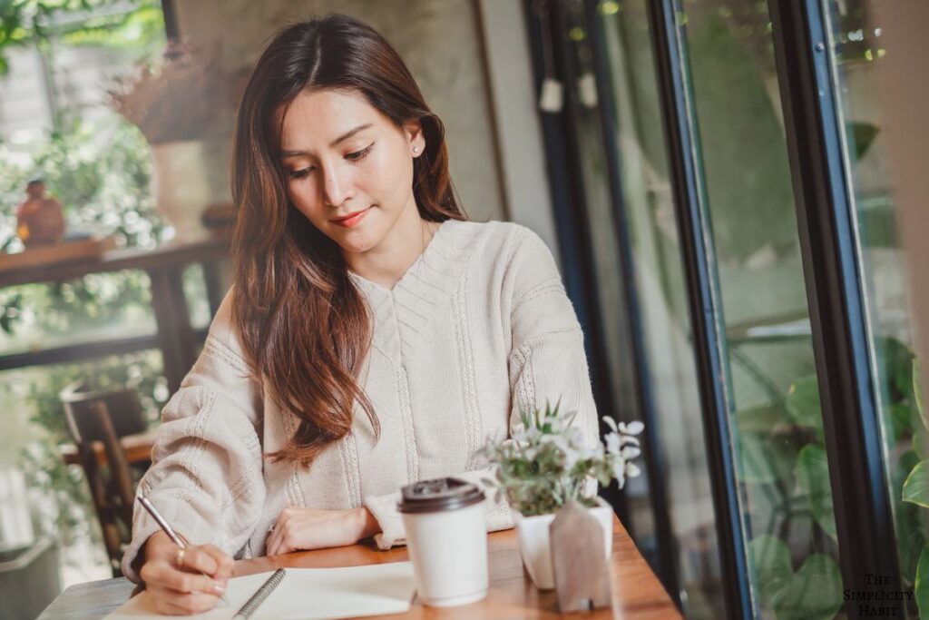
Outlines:
{"type": "MultiPolygon", "coordinates": [[[[251,620],[323,620],[384,613],[404,613],[410,609],[415,585],[408,561],[348,566],[345,568],[288,568],[280,583],[258,590],[271,573],[249,574],[229,580],[229,605],[199,615],[198,620],[229,620],[247,601],[254,609],[251,620]]],[[[155,612],[148,592],[126,601],[105,620],[147,620],[168,616],[155,612]]]]}

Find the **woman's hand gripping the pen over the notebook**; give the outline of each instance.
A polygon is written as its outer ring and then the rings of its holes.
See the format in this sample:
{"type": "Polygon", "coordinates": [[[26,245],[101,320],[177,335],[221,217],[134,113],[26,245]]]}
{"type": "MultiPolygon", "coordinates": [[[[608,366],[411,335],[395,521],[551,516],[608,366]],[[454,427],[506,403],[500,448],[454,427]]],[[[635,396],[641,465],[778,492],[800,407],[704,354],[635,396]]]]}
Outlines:
{"type": "Polygon", "coordinates": [[[164,532],[156,532],[146,541],[144,553],[145,563],[138,574],[158,613],[206,612],[226,592],[232,558],[213,545],[185,548],[183,564],[178,566],[177,545],[164,532]]]}

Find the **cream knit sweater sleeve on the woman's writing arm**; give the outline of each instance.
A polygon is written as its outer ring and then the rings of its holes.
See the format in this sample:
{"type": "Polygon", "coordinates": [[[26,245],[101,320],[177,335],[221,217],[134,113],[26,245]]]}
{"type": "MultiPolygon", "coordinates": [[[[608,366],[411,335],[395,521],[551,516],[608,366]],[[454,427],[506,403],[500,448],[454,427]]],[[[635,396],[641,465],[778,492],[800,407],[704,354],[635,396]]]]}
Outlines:
{"type": "MultiPolygon", "coordinates": [[[[138,492],[191,544],[210,543],[235,555],[255,528],[266,490],[260,399],[230,324],[228,297],[200,358],[164,407],[152,465],[138,492]]],[[[140,548],[159,529],[137,503],[123,557],[123,573],[132,581],[140,581],[140,548]]]]}

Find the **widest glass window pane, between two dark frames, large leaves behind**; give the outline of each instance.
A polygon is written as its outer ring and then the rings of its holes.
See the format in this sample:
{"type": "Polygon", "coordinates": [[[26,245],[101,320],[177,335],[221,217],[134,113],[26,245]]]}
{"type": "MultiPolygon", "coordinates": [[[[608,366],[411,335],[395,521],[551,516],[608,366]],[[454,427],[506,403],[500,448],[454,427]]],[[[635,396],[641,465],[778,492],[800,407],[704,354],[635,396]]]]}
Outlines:
{"type": "Polygon", "coordinates": [[[675,4],[754,603],[829,618],[844,588],[767,3],[675,4]]]}

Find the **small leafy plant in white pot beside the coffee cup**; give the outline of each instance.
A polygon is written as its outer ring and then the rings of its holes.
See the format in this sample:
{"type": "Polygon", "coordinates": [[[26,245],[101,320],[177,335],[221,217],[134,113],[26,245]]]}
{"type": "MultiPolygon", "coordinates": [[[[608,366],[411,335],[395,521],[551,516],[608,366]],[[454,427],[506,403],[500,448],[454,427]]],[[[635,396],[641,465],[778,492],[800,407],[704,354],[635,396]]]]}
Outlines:
{"type": "Polygon", "coordinates": [[[635,435],[641,422],[617,424],[604,416],[610,432],[605,444],[586,445],[582,429],[571,425],[576,414],[563,416],[546,404],[544,410],[520,412],[523,428],[509,440],[488,442],[482,454],[496,470],[485,484],[504,495],[512,508],[523,564],[540,589],[555,587],[548,528],[556,512],[569,501],[591,510],[603,527],[605,553],[612,549],[613,510],[596,495],[596,483],[616,479],[620,488],[639,475],[631,462],[640,454],[635,435]]]}

